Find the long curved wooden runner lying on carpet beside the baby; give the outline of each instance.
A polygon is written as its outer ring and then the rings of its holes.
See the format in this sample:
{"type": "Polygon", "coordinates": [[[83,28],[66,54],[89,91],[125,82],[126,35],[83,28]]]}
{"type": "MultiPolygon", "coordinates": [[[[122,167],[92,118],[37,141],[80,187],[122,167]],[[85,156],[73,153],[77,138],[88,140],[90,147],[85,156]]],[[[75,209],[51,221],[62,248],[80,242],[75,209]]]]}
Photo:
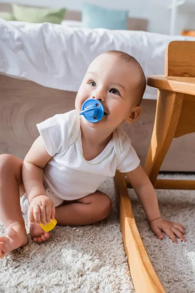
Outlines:
{"type": "Polygon", "coordinates": [[[114,181],[120,230],[136,293],[166,293],[137,230],[124,175],[117,171],[114,181]]]}

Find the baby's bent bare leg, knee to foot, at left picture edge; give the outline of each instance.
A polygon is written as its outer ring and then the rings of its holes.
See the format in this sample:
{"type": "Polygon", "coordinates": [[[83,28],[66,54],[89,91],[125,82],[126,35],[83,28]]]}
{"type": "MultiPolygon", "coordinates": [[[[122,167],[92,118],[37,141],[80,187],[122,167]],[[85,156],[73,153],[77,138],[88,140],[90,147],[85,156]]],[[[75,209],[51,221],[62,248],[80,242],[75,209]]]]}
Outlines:
{"type": "Polygon", "coordinates": [[[0,155],[0,220],[7,233],[0,236],[0,258],[28,241],[20,208],[21,167],[21,159],[0,155]]]}

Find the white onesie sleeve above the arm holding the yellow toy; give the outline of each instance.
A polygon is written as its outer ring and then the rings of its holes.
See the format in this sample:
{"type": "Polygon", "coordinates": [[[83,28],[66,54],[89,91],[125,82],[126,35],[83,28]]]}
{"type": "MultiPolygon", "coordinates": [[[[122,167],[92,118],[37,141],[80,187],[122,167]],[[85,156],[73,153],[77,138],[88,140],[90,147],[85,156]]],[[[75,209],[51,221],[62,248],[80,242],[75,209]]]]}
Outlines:
{"type": "Polygon", "coordinates": [[[39,133],[50,156],[69,146],[68,122],[65,114],[57,114],[37,124],[39,133]]]}

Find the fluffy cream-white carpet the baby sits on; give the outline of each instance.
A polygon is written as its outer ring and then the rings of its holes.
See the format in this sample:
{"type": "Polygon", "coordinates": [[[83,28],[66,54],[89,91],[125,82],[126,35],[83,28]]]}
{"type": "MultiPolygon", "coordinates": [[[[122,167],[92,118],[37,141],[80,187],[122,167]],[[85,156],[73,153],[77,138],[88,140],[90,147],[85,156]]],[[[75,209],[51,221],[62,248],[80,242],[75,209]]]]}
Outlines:
{"type": "MultiPolygon", "coordinates": [[[[189,177],[188,177],[189,178],[189,177]]],[[[194,176],[195,179],[195,176],[194,176]]],[[[0,260],[0,293],[134,293],[115,209],[113,181],[101,188],[113,199],[106,221],[57,227],[44,244],[29,244],[0,260]]],[[[195,293],[195,191],[157,190],[162,215],[187,227],[187,242],[158,240],[133,190],[137,226],[167,293],[195,293]]],[[[0,234],[4,234],[2,224],[0,234]]]]}

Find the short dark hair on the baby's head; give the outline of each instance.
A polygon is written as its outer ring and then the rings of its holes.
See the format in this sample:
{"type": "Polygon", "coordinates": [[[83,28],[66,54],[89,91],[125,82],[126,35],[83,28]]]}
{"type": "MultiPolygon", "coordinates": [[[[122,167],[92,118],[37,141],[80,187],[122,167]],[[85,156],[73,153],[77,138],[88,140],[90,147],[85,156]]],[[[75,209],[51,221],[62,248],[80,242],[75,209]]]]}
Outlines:
{"type": "Polygon", "coordinates": [[[145,92],[146,89],[146,77],[145,74],[143,72],[143,69],[141,67],[141,65],[138,63],[138,61],[136,60],[136,58],[134,58],[133,56],[122,52],[122,51],[117,51],[117,50],[110,50],[108,52],[106,52],[108,54],[115,54],[117,55],[119,58],[123,59],[124,61],[127,61],[129,63],[133,63],[137,69],[139,70],[140,73],[140,79],[137,83],[137,100],[138,103],[137,105],[141,104],[142,98],[143,98],[143,94],[145,92]]]}

